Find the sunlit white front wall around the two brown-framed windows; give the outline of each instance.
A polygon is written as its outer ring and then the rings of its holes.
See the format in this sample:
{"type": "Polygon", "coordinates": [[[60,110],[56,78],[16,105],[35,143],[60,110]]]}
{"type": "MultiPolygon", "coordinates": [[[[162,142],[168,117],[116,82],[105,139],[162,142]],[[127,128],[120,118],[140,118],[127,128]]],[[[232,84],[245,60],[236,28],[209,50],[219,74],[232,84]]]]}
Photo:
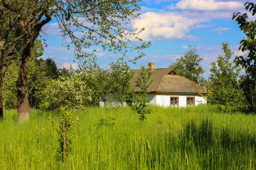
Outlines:
{"type": "Polygon", "coordinates": [[[198,94],[156,94],[156,105],[170,107],[170,97],[179,97],[179,107],[186,107],[186,97],[195,97],[195,105],[206,104],[206,99],[198,94]]]}

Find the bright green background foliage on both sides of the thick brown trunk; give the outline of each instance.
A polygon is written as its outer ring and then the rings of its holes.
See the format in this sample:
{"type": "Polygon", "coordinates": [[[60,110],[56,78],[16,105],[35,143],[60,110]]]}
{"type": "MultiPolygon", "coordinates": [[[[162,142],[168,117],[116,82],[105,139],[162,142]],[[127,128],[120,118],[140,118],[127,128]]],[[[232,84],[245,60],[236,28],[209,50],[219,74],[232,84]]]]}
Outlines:
{"type": "MultiPolygon", "coordinates": [[[[35,97],[35,92],[46,87],[49,82],[49,77],[46,74],[45,60],[41,58],[44,54],[44,47],[40,40],[36,40],[31,48],[31,59],[29,61],[29,74],[27,83],[29,87],[29,103],[33,108],[37,108],[38,99],[35,97]]],[[[17,108],[17,88],[16,81],[20,69],[20,51],[15,51],[14,57],[7,68],[3,79],[3,100],[5,108],[17,108]]]]}

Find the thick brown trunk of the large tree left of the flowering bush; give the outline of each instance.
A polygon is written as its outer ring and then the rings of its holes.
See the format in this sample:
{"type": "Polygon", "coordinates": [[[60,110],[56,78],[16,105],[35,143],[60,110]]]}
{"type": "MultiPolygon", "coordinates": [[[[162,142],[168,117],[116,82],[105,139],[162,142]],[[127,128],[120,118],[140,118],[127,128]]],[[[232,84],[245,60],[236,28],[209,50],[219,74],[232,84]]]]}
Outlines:
{"type": "Polygon", "coordinates": [[[17,107],[18,122],[24,122],[29,119],[29,88],[27,86],[27,75],[29,71],[31,42],[24,42],[21,54],[20,72],[17,79],[17,107]]]}

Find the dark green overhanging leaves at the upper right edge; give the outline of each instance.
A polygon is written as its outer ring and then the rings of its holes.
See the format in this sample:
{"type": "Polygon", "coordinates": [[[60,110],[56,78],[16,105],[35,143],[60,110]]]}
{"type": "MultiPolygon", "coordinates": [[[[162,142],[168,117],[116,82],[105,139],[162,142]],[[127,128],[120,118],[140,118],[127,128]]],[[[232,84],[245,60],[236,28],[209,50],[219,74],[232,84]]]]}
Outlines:
{"type": "MultiPolygon", "coordinates": [[[[245,10],[256,14],[256,5],[254,3],[245,3],[245,10]]],[[[247,74],[256,78],[256,20],[249,21],[246,13],[233,13],[232,20],[236,19],[239,28],[246,35],[246,38],[240,41],[239,50],[245,52],[249,51],[247,57],[236,56],[237,64],[245,68],[247,74]]]]}

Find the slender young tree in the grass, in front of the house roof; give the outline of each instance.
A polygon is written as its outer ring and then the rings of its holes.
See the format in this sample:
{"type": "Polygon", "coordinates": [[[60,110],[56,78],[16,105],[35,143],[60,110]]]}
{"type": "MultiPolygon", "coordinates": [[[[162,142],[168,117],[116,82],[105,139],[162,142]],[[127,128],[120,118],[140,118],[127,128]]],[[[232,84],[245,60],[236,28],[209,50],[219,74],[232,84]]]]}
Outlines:
{"type": "Polygon", "coordinates": [[[140,122],[145,122],[146,114],[152,112],[151,108],[148,107],[148,87],[151,85],[153,80],[150,80],[152,74],[151,70],[146,69],[145,65],[141,65],[140,76],[135,81],[136,86],[140,88],[140,92],[133,98],[134,105],[131,106],[132,110],[139,114],[140,122]]]}

